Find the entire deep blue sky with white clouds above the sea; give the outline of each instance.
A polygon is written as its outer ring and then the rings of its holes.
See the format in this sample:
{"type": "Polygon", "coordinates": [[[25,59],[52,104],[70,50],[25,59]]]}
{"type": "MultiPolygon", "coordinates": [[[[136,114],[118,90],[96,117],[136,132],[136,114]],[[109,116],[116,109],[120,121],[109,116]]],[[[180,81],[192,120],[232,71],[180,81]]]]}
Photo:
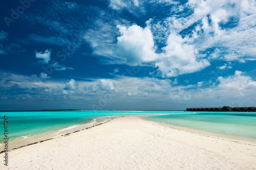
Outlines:
{"type": "Polygon", "coordinates": [[[256,106],[254,0],[0,2],[0,110],[256,106]]]}

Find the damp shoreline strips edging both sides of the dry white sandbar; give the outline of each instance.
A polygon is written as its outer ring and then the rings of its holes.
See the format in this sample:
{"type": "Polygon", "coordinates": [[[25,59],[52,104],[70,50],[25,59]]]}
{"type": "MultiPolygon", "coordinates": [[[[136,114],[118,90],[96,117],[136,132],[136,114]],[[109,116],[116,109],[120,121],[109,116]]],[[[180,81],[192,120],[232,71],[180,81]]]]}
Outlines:
{"type": "MultiPolygon", "coordinates": [[[[218,134],[218,133],[202,131],[202,130],[198,130],[198,129],[179,127],[179,126],[174,126],[174,125],[166,124],[163,122],[157,122],[157,121],[145,118],[148,116],[155,116],[155,115],[165,115],[165,114],[148,114],[148,115],[143,115],[143,114],[139,115],[138,114],[138,115],[96,117],[96,118],[94,118],[94,121],[89,122],[89,123],[73,125],[73,126],[69,126],[67,128],[62,128],[62,129],[58,129],[58,130],[52,130],[52,131],[45,132],[42,134],[32,135],[27,138],[19,138],[19,139],[11,140],[11,141],[9,141],[9,151],[8,152],[19,149],[19,148],[27,147],[28,145],[55,139],[60,136],[67,136],[72,133],[88,130],[95,126],[99,126],[99,125],[108,123],[112,119],[117,118],[117,117],[129,117],[129,116],[136,116],[136,117],[142,118],[145,121],[152,122],[152,123],[155,123],[155,124],[158,124],[161,126],[165,126],[167,128],[176,129],[178,131],[184,131],[187,133],[192,133],[192,134],[197,134],[197,135],[202,135],[202,136],[217,138],[217,139],[222,139],[222,140],[229,140],[232,142],[237,142],[237,143],[242,143],[242,144],[256,145],[256,140],[254,140],[254,139],[243,138],[243,137],[239,137],[239,136],[223,135],[223,134],[218,134]],[[74,127],[74,128],[70,128],[70,127],[74,127]]],[[[2,154],[2,153],[4,153],[4,145],[0,145],[0,154],[2,154]]]]}

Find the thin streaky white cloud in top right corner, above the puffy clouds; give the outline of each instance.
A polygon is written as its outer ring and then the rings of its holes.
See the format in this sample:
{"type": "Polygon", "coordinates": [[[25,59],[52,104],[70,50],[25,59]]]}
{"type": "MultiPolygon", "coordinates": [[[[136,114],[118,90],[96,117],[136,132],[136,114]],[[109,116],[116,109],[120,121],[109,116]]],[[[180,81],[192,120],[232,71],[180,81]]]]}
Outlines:
{"type": "MultiPolygon", "coordinates": [[[[178,7],[180,5],[176,6],[178,7]]],[[[164,44],[170,34],[182,33],[187,38],[187,43],[193,44],[196,51],[207,51],[206,57],[209,59],[256,59],[255,1],[191,0],[184,7],[190,7],[194,13],[148,22],[156,42],[164,44]],[[211,54],[208,48],[216,48],[216,52],[211,54]]]]}

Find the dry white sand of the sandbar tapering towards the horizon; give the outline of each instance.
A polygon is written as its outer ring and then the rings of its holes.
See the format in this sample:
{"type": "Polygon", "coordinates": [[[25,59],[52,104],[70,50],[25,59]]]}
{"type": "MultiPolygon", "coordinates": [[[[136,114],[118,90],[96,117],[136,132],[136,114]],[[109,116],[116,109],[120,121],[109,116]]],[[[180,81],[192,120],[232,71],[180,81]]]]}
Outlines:
{"type": "MultiPolygon", "coordinates": [[[[0,169],[256,169],[256,143],[169,128],[138,116],[8,153],[0,169]]],[[[3,159],[4,154],[0,154],[3,159]]]]}

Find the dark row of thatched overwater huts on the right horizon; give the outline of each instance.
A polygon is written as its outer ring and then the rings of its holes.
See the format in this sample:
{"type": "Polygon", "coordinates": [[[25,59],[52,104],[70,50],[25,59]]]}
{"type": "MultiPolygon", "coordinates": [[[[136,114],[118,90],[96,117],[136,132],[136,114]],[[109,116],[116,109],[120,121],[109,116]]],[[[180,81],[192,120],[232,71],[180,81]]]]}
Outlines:
{"type": "Polygon", "coordinates": [[[255,107],[207,107],[207,108],[187,108],[186,111],[202,112],[256,112],[255,107]]]}

